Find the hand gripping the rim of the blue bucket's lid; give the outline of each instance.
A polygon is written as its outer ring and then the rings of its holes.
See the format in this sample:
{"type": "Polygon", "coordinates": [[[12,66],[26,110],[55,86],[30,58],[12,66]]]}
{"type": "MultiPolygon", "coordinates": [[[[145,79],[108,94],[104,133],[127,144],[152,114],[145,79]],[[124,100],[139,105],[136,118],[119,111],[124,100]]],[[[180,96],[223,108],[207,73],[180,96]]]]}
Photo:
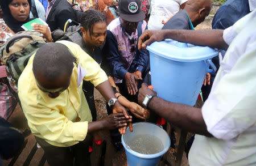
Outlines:
{"type": "Polygon", "coordinates": [[[164,40],[164,30],[146,30],[138,40],[138,49],[146,49],[154,41],[164,40]]]}

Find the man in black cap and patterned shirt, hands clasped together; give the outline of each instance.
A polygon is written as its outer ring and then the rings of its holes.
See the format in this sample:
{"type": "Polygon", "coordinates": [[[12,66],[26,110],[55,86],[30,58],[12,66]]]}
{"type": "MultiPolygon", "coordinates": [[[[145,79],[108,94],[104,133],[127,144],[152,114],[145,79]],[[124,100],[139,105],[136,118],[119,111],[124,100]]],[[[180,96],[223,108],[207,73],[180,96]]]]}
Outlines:
{"type": "Polygon", "coordinates": [[[147,29],[140,6],[140,0],[120,0],[120,18],[108,25],[110,34],[106,37],[106,42],[110,43],[107,58],[113,67],[115,83],[129,99],[130,95],[138,92],[138,81],[143,79],[149,68],[148,52],[138,50],[137,46],[139,36],[147,29]]]}

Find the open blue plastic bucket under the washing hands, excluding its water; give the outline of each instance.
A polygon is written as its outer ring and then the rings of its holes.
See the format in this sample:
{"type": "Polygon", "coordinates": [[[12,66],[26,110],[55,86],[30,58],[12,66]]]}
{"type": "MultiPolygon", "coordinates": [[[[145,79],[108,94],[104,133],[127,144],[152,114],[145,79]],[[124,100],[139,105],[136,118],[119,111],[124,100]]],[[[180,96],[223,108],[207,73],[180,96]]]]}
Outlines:
{"type": "Polygon", "coordinates": [[[122,135],[122,144],[125,147],[128,166],[155,166],[168,151],[171,141],[169,135],[162,127],[148,122],[138,122],[133,124],[133,132],[130,132],[129,127],[127,127],[126,134],[122,135]],[[157,154],[151,155],[140,154],[131,150],[127,143],[138,134],[155,135],[163,143],[164,149],[157,154]]]}

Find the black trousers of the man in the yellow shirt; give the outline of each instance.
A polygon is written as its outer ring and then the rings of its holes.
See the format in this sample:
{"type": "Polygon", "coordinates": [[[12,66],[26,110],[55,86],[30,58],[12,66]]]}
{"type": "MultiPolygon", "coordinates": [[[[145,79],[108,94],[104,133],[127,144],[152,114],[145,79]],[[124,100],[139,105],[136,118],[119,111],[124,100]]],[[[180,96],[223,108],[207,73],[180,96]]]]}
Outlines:
{"type": "Polygon", "coordinates": [[[46,160],[51,166],[90,165],[90,141],[85,140],[69,147],[57,147],[47,143],[42,138],[35,136],[35,139],[43,148],[46,160]]]}

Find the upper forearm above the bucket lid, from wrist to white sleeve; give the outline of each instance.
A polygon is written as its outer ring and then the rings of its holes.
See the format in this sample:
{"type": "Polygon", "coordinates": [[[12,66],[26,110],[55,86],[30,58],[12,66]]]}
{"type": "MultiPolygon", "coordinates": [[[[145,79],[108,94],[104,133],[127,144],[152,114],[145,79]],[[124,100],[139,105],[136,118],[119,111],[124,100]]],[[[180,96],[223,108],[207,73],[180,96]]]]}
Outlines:
{"type": "Polygon", "coordinates": [[[228,45],[223,39],[222,29],[204,29],[194,31],[165,29],[163,31],[164,39],[172,39],[194,45],[210,46],[212,48],[224,50],[228,48],[228,45]]]}

